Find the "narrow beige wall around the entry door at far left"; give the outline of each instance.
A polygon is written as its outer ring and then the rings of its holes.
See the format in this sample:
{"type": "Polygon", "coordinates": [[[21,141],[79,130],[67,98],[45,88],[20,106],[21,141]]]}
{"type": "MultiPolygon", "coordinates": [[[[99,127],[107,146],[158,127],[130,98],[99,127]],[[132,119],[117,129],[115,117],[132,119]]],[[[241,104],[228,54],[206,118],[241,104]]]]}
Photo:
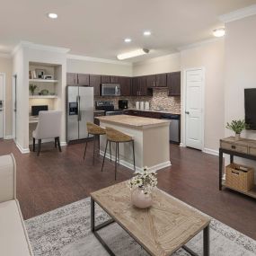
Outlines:
{"type": "Polygon", "coordinates": [[[11,137],[12,130],[12,74],[13,61],[8,57],[0,57],[0,73],[5,74],[5,135],[11,137]]]}

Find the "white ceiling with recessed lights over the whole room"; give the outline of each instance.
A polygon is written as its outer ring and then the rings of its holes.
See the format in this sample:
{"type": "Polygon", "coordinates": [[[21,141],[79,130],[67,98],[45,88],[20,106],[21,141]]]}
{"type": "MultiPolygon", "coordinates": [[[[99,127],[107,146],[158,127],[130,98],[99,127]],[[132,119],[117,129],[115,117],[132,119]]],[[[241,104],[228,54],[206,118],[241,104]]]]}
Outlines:
{"type": "Polygon", "coordinates": [[[213,38],[218,16],[256,0],[1,0],[0,52],[21,40],[71,49],[71,54],[116,59],[137,48],[158,57],[213,38]],[[46,13],[57,13],[50,20],[46,13]],[[143,31],[152,31],[144,37],[143,31]],[[129,37],[132,42],[124,43],[129,37]]]}

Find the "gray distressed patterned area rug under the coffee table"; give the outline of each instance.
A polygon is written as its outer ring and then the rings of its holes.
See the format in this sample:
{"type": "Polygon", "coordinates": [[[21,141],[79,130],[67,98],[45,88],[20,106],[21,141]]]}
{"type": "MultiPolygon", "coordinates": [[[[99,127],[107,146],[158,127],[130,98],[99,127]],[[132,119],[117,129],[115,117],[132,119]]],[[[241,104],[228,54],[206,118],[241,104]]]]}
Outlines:
{"type": "MultiPolygon", "coordinates": [[[[96,207],[96,224],[108,216],[96,207]]],[[[108,253],[91,233],[90,198],[35,216],[25,221],[35,256],[103,256],[108,253]]],[[[112,224],[101,230],[105,242],[117,255],[148,255],[119,225],[112,224]]],[[[202,234],[187,244],[202,255],[202,234]]],[[[173,256],[190,256],[182,249],[173,256]]],[[[256,255],[256,242],[233,228],[212,219],[210,225],[211,256],[256,255]]]]}

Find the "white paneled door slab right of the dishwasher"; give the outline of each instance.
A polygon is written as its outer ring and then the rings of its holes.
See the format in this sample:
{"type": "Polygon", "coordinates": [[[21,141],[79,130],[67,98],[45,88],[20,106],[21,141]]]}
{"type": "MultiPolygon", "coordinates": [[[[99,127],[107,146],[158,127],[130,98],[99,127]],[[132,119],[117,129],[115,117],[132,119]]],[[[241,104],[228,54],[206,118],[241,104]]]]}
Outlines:
{"type": "Polygon", "coordinates": [[[202,150],[203,147],[203,85],[204,69],[186,70],[185,122],[186,146],[202,150]]]}

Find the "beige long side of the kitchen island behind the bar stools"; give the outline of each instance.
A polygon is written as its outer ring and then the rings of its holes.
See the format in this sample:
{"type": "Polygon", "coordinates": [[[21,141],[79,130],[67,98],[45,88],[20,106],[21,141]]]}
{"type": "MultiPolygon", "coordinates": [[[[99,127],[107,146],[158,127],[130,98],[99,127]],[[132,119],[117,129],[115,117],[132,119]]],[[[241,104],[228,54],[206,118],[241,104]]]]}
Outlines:
{"type": "MultiPolygon", "coordinates": [[[[108,122],[104,122],[101,120],[101,127],[110,127],[115,128],[129,136],[133,137],[135,143],[135,163],[137,171],[142,170],[144,166],[144,159],[143,159],[143,130],[139,128],[130,128],[126,126],[114,125],[108,122]]],[[[104,154],[106,146],[106,136],[102,136],[100,139],[100,148],[101,154],[104,154]]],[[[115,143],[111,143],[111,154],[112,160],[115,160],[115,153],[116,153],[116,146],[115,143]]],[[[110,158],[110,148],[107,148],[107,158],[110,158]]],[[[132,154],[132,143],[119,143],[119,159],[120,164],[128,167],[129,169],[134,169],[133,167],[133,154],[132,154]]]]}

